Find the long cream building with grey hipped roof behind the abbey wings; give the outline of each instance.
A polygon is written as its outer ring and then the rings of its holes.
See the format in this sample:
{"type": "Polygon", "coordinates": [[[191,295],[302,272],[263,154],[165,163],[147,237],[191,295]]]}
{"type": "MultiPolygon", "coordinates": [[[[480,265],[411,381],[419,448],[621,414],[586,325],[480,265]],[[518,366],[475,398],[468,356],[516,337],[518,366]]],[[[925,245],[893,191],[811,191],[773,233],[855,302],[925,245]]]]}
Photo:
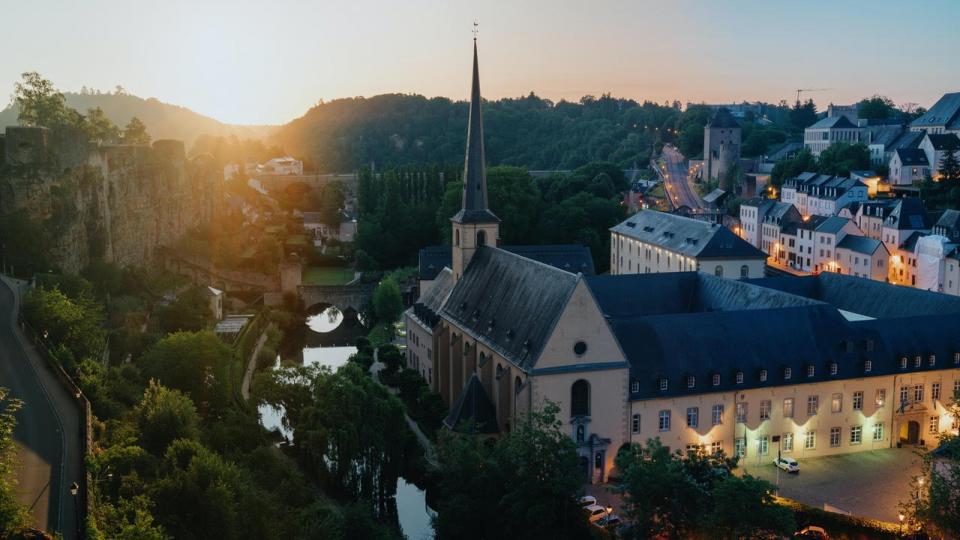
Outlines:
{"type": "Polygon", "coordinates": [[[610,273],[763,276],[767,256],[716,223],[643,210],[610,229],[610,273]]]}

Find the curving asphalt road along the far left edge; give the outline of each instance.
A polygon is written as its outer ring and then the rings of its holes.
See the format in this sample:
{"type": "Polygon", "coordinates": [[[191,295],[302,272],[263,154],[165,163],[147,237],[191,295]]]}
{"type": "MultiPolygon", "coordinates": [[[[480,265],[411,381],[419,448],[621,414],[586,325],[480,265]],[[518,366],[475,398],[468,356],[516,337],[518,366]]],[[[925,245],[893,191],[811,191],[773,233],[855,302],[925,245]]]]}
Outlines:
{"type": "Polygon", "coordinates": [[[0,284],[0,386],[23,401],[13,432],[20,457],[17,495],[34,527],[78,538],[70,484],[83,475],[79,409],[17,329],[11,283],[4,278],[0,284]]]}

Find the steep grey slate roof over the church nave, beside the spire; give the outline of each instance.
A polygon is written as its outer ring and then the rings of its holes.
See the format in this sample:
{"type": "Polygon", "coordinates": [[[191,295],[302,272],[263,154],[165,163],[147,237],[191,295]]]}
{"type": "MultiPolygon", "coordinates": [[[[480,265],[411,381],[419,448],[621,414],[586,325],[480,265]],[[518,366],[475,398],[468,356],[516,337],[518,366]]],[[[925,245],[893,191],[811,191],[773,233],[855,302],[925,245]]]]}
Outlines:
{"type": "Polygon", "coordinates": [[[483,246],[470,259],[443,316],[523,369],[532,368],[580,276],[483,246]]]}

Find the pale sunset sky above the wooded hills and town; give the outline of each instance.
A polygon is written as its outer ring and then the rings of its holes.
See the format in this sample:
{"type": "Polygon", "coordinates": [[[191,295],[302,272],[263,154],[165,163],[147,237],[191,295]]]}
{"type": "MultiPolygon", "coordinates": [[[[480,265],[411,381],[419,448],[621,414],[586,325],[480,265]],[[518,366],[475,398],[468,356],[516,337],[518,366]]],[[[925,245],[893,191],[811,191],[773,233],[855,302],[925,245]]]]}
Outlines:
{"type": "MultiPolygon", "coordinates": [[[[24,71],[122,85],[218,120],[277,124],[320,100],[792,102],[960,91],[960,1],[0,0],[0,95],[24,71]]],[[[6,96],[4,96],[6,97],[6,96]]]]}

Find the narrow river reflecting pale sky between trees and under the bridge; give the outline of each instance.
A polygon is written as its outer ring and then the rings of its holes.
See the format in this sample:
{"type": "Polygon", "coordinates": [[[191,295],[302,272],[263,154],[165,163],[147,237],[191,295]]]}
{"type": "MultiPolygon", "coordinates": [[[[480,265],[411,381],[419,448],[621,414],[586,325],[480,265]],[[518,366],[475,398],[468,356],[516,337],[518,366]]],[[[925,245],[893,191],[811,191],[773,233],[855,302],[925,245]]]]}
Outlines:
{"type": "MultiPolygon", "coordinates": [[[[347,363],[350,355],[357,352],[353,346],[344,346],[358,337],[358,330],[363,329],[363,321],[356,312],[349,311],[346,315],[334,307],[329,307],[319,313],[308,315],[306,320],[307,331],[304,336],[303,365],[327,366],[336,370],[347,363]]],[[[362,333],[359,333],[362,335],[362,333]]],[[[280,357],[274,369],[279,369],[280,357]]],[[[260,423],[268,430],[279,431],[288,441],[293,434],[285,429],[281,423],[283,411],[269,405],[261,405],[260,423]]],[[[427,506],[426,492],[409,482],[402,476],[397,480],[397,517],[400,530],[410,540],[433,538],[433,527],[430,525],[430,516],[433,510],[427,506]]]]}

